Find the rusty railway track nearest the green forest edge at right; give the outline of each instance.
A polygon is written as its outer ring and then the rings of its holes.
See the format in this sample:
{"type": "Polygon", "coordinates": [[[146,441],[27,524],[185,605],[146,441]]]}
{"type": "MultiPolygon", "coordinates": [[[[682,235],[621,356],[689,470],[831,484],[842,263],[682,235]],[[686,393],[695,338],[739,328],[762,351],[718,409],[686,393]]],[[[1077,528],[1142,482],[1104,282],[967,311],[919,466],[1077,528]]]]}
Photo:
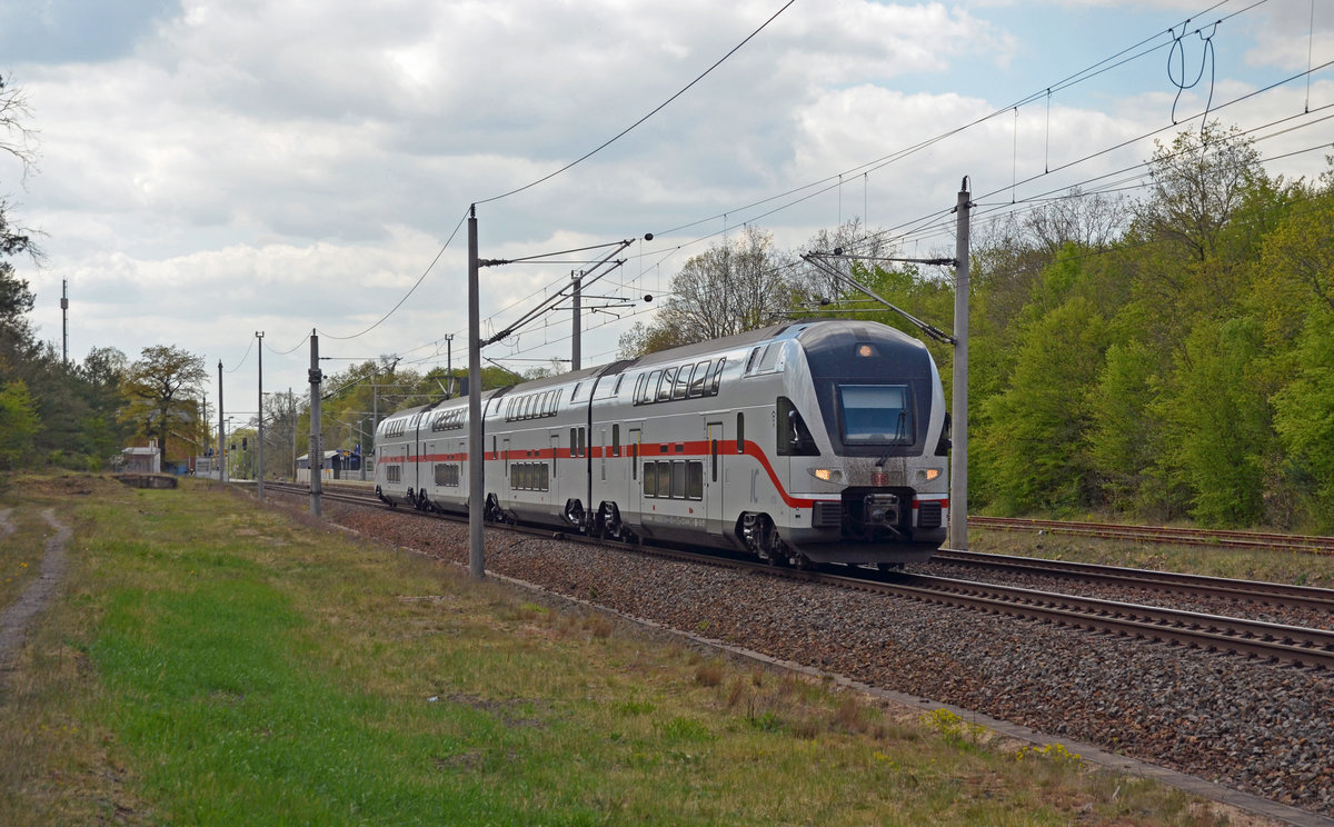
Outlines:
{"type": "Polygon", "coordinates": [[[970,516],[968,526],[972,528],[988,528],[994,531],[1029,531],[1103,538],[1111,540],[1138,540],[1145,543],[1215,546],[1225,548],[1273,548],[1281,551],[1334,555],[1334,538],[1267,534],[1261,531],[1210,531],[1205,528],[1175,528],[1167,526],[1069,523],[1065,520],[988,516],[970,516]]]}

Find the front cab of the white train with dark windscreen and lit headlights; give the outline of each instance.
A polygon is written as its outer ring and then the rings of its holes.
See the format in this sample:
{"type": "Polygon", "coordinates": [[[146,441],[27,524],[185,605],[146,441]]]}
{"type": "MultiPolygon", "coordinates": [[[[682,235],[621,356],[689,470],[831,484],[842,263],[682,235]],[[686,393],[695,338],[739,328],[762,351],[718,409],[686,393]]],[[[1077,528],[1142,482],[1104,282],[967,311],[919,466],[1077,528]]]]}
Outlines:
{"type": "Polygon", "coordinates": [[[820,563],[923,562],[948,524],[944,393],[930,352],[884,327],[812,327],[775,404],[784,542],[820,563]],[[806,373],[808,371],[808,375],[806,373]]]}

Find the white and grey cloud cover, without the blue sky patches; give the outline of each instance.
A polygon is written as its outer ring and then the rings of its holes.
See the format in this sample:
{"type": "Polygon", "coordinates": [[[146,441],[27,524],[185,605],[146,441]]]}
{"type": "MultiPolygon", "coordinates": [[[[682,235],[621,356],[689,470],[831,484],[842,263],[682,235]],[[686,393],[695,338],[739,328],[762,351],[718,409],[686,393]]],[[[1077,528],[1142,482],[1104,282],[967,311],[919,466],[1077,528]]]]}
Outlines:
{"type": "MultiPolygon", "coordinates": [[[[404,296],[470,203],[546,176],[616,135],[780,5],[185,0],[177,13],[137,4],[117,24],[115,48],[79,56],[79,39],[68,39],[16,71],[31,91],[43,151],[23,217],[51,236],[51,267],[24,269],[39,292],[36,320],[44,336],[59,337],[56,299],[69,279],[75,353],[116,345],[135,356],[169,341],[232,368],[255,329],[267,331],[273,352],[312,327],[355,333],[404,296]]],[[[1305,65],[1297,53],[1305,55],[1305,29],[1289,7],[1275,5],[1273,25],[1258,27],[1253,41],[1238,25],[1230,43],[1305,65]]],[[[1022,197],[1147,157],[1151,148],[1139,141],[1067,175],[1042,175],[1162,123],[1173,95],[1165,96],[1157,65],[1157,87],[1118,76],[1078,101],[1057,96],[1050,116],[1045,103],[1018,117],[1003,113],[791,209],[764,217],[780,201],[743,209],[1030,92],[1010,89],[1003,100],[978,92],[991,75],[1011,77],[1021,57],[1041,67],[1045,44],[1071,36],[1061,28],[1062,4],[1037,7],[1023,27],[992,13],[1022,8],[798,3],[596,157],[479,204],[483,255],[699,221],[627,252],[616,276],[624,295],[660,292],[707,244],[692,241],[742,221],[771,228],[788,247],[840,217],[864,212],[872,225],[894,225],[948,208],[963,175],[978,192],[1003,191],[998,199],[1011,180],[1041,176],[1021,187],[1022,197]]],[[[1146,27],[1161,19],[1146,16],[1146,27]]],[[[1329,24],[1317,23],[1315,55],[1327,60],[1329,24]]],[[[1081,35],[1090,61],[1127,45],[1098,35],[1081,35]]],[[[1255,83],[1234,76],[1239,61],[1219,67],[1219,95],[1255,83]]],[[[1317,79],[1313,101],[1331,100],[1329,84],[1317,79]]],[[[1266,97],[1242,117],[1271,117],[1294,105],[1293,93],[1266,97]]],[[[463,255],[460,233],[390,323],[360,339],[329,339],[325,352],[402,352],[462,331],[463,255]]],[[[575,267],[488,269],[484,312],[563,283],[575,267]]],[[[599,324],[612,321],[602,316],[599,324]]],[[[567,317],[552,317],[519,347],[560,339],[567,328],[567,317]]],[[[614,348],[619,329],[599,328],[600,344],[584,352],[614,348]]],[[[295,371],[299,384],[303,357],[300,349],[275,357],[272,369],[295,371]]],[[[249,381],[244,376],[236,379],[249,381]]]]}

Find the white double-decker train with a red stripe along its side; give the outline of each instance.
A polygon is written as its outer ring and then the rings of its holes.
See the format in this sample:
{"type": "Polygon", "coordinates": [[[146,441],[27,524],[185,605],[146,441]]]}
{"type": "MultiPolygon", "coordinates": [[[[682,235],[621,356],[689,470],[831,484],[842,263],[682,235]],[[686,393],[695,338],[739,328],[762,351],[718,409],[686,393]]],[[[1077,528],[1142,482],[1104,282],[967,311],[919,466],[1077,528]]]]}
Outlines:
{"type": "MultiPolygon", "coordinates": [[[[902,567],[948,526],[926,345],[812,319],[484,391],[484,516],[775,564],[902,567]]],[[[467,514],[468,400],[376,427],[375,492],[467,514]]]]}

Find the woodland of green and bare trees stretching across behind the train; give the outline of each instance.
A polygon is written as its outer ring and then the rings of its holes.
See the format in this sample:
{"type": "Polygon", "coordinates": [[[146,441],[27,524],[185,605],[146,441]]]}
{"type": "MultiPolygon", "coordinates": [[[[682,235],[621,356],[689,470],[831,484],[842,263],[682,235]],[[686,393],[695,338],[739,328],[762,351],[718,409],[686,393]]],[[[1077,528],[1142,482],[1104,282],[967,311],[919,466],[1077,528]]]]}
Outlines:
{"type": "MultiPolygon", "coordinates": [[[[1073,191],[978,211],[970,512],[1334,532],[1334,159],[1298,180],[1261,161],[1246,135],[1210,123],[1158,144],[1129,195],[1073,191]]],[[[156,345],[131,361],[100,347],[65,363],[37,340],[25,320],[33,296],[12,265],[40,260],[36,241],[0,203],[0,470],[101,470],[148,438],[168,460],[207,452],[216,423],[201,357],[156,345]]],[[[803,251],[835,247],[895,252],[856,221],[803,251]]],[[[755,227],[715,243],[682,265],[652,320],[622,336],[620,355],[848,308],[920,335],[800,252],[776,249],[755,227]]],[[[954,327],[950,269],[844,267],[890,304],[954,327]]],[[[952,348],[928,345],[948,395],[952,348]]],[[[483,375],[484,387],[514,381],[499,367],[483,375]]],[[[354,450],[370,443],[376,418],[458,385],[440,368],[386,356],[324,388],[324,446],[354,450]]],[[[256,424],[243,423],[233,442],[252,442],[256,424]]],[[[283,474],[305,451],[301,396],[272,395],[265,431],[281,458],[268,468],[283,474]]]]}

